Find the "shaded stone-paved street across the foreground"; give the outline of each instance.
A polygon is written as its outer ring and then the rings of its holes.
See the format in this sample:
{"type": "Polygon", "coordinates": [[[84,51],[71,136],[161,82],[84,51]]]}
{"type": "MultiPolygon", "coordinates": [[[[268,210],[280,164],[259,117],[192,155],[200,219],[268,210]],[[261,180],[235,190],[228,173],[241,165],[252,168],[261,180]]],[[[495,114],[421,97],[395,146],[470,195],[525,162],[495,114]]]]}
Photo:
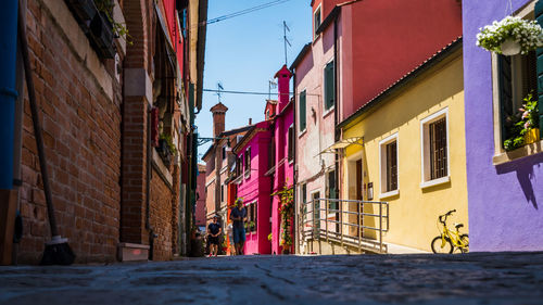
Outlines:
{"type": "Polygon", "coordinates": [[[1,267],[0,304],[543,304],[543,253],[1,267]]]}

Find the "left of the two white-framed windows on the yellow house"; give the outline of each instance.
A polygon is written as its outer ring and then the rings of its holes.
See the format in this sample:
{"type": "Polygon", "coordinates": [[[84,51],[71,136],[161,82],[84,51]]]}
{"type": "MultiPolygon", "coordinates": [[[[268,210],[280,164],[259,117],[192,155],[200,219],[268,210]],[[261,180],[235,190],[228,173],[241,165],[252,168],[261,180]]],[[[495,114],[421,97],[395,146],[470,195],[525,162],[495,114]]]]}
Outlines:
{"type": "Polygon", "coordinates": [[[379,141],[380,198],[397,194],[397,134],[379,141]]]}

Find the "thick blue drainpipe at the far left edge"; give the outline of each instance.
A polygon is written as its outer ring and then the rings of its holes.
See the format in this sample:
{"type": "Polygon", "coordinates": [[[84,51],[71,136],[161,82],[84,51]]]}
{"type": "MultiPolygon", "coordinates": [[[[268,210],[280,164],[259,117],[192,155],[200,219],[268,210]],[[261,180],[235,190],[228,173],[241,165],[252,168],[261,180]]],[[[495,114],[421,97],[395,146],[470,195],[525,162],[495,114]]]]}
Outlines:
{"type": "Polygon", "coordinates": [[[13,140],[15,126],[15,63],[17,52],[17,1],[8,0],[0,10],[0,190],[13,188],[13,140]]]}

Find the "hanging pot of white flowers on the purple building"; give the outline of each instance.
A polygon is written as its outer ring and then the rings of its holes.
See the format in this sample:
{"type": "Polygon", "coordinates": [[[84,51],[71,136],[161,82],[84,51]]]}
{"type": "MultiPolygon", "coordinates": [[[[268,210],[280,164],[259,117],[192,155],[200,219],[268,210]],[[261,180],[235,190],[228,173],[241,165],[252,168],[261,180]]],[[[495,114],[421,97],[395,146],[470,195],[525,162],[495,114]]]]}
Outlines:
{"type": "Polygon", "coordinates": [[[477,46],[497,54],[527,54],[543,47],[543,28],[535,21],[506,16],[480,28],[477,46]]]}

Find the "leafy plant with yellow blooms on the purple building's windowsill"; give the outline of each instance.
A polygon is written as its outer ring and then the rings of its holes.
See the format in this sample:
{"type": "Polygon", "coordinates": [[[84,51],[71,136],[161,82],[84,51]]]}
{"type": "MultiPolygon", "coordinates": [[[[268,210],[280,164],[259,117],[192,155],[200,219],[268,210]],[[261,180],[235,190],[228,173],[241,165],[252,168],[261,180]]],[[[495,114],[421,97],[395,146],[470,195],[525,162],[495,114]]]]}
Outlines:
{"type": "Polygon", "coordinates": [[[507,136],[504,141],[506,151],[516,150],[522,145],[531,144],[540,139],[538,101],[529,93],[518,112],[506,118],[507,136]]]}

